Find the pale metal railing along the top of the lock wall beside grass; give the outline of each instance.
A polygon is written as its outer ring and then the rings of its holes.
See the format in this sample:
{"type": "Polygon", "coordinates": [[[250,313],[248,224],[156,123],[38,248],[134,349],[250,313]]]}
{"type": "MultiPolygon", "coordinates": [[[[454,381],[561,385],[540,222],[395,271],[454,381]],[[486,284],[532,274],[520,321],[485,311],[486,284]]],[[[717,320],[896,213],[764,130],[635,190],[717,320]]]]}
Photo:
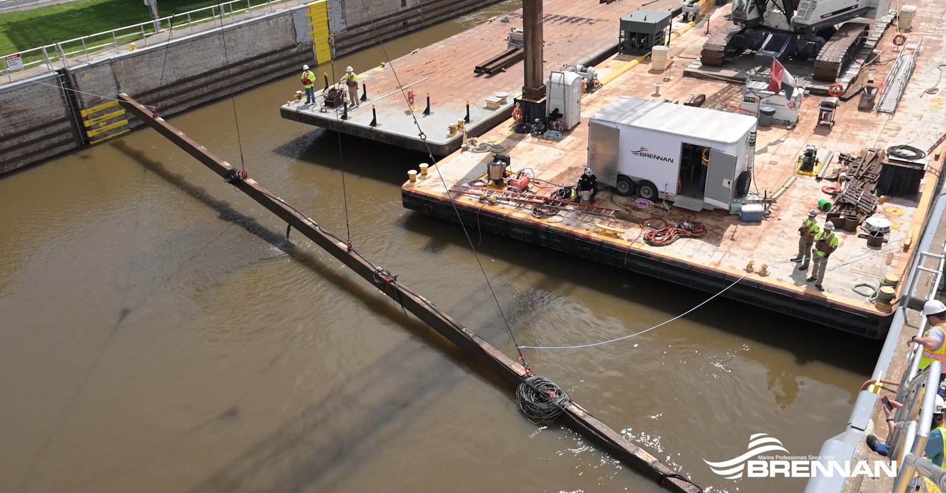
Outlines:
{"type": "MultiPolygon", "coordinates": [[[[184,31],[184,34],[191,34],[195,32],[195,26],[208,22],[219,20],[222,24],[224,19],[234,18],[241,14],[246,14],[247,18],[253,18],[254,14],[266,14],[277,9],[287,9],[303,3],[305,3],[305,0],[231,0],[132,26],[119,27],[59,43],[46,44],[19,53],[10,53],[9,56],[20,55],[23,66],[10,68],[7,57],[2,56],[0,57],[0,61],[3,61],[2,66],[0,66],[0,75],[6,76],[9,81],[12,81],[11,73],[19,70],[44,67],[46,72],[51,72],[58,68],[53,65],[54,62],[60,63],[62,67],[68,67],[70,59],[71,62],[82,62],[84,57],[84,61],[87,62],[91,60],[93,53],[118,48],[123,44],[139,40],[143,40],[145,45],[148,46],[150,44],[149,38],[166,30],[173,31],[175,36],[179,35],[179,31],[184,31]],[[277,8],[276,6],[280,7],[277,8]]],[[[233,22],[236,22],[236,19],[233,22]]],[[[167,41],[161,40],[158,43],[166,43],[167,41]]]]}

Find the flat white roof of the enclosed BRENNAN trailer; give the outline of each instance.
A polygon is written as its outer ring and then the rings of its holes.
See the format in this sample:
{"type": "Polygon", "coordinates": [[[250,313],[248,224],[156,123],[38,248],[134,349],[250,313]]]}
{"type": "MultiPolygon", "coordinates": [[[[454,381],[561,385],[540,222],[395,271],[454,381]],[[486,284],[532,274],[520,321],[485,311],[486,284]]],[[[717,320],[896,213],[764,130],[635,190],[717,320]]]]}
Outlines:
{"type": "Polygon", "coordinates": [[[722,144],[739,142],[756,126],[755,116],[747,114],[627,96],[619,97],[600,112],[592,114],[591,120],[722,144]]]}

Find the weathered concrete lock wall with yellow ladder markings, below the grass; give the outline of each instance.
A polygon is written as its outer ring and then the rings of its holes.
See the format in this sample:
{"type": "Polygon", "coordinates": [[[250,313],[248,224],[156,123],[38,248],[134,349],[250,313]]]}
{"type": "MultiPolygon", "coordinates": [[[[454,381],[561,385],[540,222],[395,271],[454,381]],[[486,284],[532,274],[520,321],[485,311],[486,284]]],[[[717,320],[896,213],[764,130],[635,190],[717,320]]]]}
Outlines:
{"type": "MultiPolygon", "coordinates": [[[[388,40],[498,1],[327,0],[336,57],[377,44],[364,6],[388,40]]],[[[141,125],[112,104],[118,93],[169,116],[227,97],[231,84],[241,91],[315,65],[307,13],[306,5],[280,10],[0,85],[0,173],[141,125]]]]}

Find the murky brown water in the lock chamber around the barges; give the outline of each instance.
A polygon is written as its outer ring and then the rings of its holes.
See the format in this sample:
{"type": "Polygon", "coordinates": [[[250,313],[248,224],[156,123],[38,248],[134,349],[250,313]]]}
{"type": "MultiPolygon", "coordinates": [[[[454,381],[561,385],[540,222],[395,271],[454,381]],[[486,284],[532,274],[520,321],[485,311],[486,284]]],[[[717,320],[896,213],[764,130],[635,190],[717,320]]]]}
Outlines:
{"type": "MultiPolygon", "coordinates": [[[[236,97],[251,175],[343,236],[344,167],[359,251],[515,354],[460,228],[400,205],[424,156],[342,138],[342,164],[337,134],[279,118],[296,85],[236,97]]],[[[239,162],[232,112],[225,100],[170,121],[239,162]]],[[[0,206],[0,491],[659,490],[574,432],[530,424],[482,368],[304,238],[287,243],[283,223],[155,132],[0,179],[0,206]]],[[[471,233],[520,343],[609,339],[706,298],[471,233]]],[[[628,341],[526,355],[704,487],[800,491],[729,481],[703,459],[757,432],[815,454],[878,350],[714,300],[628,341]]]]}

